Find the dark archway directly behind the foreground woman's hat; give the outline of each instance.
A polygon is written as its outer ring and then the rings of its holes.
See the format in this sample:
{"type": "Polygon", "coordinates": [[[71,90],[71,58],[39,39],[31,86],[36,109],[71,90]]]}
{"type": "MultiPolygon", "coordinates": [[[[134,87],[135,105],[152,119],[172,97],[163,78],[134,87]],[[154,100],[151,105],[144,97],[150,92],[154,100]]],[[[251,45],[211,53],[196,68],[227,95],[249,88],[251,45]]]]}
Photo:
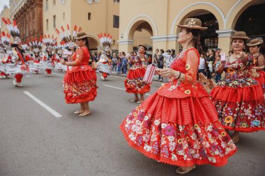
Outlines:
{"type": "MultiPolygon", "coordinates": [[[[208,27],[206,31],[202,31],[201,34],[201,44],[204,51],[208,49],[216,49],[218,47],[218,33],[216,31],[219,29],[218,20],[213,13],[208,10],[194,10],[181,20],[180,24],[183,24],[184,20],[188,17],[195,17],[202,21],[202,26],[208,27]]],[[[177,34],[180,32],[180,28],[177,28],[177,34]]],[[[181,50],[181,47],[180,47],[181,50]]]]}

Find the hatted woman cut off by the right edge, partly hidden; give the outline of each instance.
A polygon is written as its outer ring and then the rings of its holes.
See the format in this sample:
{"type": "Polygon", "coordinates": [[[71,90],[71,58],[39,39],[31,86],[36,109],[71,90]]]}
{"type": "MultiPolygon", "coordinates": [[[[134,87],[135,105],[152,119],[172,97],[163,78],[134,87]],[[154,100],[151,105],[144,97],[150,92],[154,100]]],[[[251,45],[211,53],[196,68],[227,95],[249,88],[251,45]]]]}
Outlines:
{"type": "Polygon", "coordinates": [[[265,58],[263,54],[259,53],[262,43],[263,40],[256,38],[251,40],[247,45],[250,47],[250,54],[253,56],[252,69],[257,72],[257,74],[253,75],[253,77],[262,85],[262,90],[265,97],[265,72],[262,71],[264,70],[265,58]]]}

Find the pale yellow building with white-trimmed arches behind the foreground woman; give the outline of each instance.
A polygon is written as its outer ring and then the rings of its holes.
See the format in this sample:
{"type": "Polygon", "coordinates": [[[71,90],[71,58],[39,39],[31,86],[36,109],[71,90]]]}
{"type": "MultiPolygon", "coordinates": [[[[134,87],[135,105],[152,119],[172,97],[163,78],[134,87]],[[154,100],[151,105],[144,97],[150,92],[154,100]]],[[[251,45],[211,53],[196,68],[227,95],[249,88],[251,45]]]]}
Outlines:
{"type": "Polygon", "coordinates": [[[158,48],[179,52],[176,40],[180,28],[176,24],[182,24],[188,17],[197,17],[203,26],[209,27],[202,32],[204,50],[220,47],[228,53],[229,37],[235,31],[245,31],[251,38],[265,37],[264,10],[264,0],[123,0],[119,51],[132,51],[139,42],[144,42],[135,38],[135,34],[144,31],[148,38],[144,43],[151,42],[153,51],[158,48]]]}

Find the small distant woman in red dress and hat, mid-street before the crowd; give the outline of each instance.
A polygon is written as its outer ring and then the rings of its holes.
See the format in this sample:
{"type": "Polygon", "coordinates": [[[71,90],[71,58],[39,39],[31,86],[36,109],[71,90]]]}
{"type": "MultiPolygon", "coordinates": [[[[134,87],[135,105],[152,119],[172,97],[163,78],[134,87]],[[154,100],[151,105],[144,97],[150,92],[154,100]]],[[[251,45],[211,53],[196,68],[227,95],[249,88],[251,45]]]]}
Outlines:
{"type": "Polygon", "coordinates": [[[146,66],[144,65],[144,62],[146,62],[146,49],[146,45],[139,44],[139,54],[133,58],[132,67],[130,67],[126,80],[124,80],[126,92],[135,94],[135,99],[132,99],[131,102],[144,102],[144,93],[148,93],[151,89],[150,83],[143,81],[146,72],[146,66]]]}

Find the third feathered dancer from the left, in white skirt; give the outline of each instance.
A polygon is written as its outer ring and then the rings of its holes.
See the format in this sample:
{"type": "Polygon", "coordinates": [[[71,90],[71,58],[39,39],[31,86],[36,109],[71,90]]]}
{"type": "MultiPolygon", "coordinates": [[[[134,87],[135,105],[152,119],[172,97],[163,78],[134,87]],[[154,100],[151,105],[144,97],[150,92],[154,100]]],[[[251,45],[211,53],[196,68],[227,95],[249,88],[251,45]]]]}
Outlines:
{"type": "Polygon", "coordinates": [[[40,52],[42,51],[43,45],[43,36],[40,36],[40,39],[35,38],[31,42],[29,42],[29,47],[33,50],[33,54],[31,54],[31,61],[33,62],[30,67],[36,74],[40,72],[40,52]]]}

